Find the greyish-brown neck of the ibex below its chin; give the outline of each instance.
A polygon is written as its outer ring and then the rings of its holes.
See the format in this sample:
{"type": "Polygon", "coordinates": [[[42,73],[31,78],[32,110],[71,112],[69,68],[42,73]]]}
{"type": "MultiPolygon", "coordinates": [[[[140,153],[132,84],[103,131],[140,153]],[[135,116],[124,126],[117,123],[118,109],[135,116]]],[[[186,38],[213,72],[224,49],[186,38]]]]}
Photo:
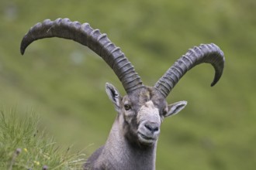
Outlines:
{"type": "Polygon", "coordinates": [[[102,157],[109,160],[108,169],[155,169],[156,145],[131,145],[119,129],[118,119],[112,125],[102,157]]]}

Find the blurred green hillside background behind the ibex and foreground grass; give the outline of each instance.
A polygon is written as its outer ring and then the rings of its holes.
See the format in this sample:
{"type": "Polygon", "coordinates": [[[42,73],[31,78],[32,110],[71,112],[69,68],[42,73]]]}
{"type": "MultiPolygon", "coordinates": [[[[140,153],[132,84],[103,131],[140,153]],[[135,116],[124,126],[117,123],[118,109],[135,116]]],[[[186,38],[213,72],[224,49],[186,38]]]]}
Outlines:
{"type": "Polygon", "coordinates": [[[70,40],[36,41],[21,56],[31,26],[60,17],[90,23],[150,86],[187,49],[214,42],[226,56],[223,76],[209,87],[214,71],[202,64],[172,90],[168,103],[189,104],[161,127],[157,169],[255,169],[255,8],[254,0],[2,0],[0,104],[35,109],[58,143],[90,155],[116,117],[105,83],[124,95],[123,87],[99,56],[70,40]]]}

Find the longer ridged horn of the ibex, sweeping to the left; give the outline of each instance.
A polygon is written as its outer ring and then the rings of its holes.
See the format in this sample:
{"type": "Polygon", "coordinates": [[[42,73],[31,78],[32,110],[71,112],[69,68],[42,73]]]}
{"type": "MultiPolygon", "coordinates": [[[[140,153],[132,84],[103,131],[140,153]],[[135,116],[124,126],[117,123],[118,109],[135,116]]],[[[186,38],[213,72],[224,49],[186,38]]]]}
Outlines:
{"type": "Polygon", "coordinates": [[[126,93],[142,86],[140,76],[119,47],[116,47],[106,34],[99,32],[99,29],[92,29],[88,23],[71,22],[69,19],[56,19],[55,21],[46,19],[37,23],[22,39],[20,45],[22,55],[31,42],[49,37],[72,39],[88,46],[114,70],[116,76],[123,83],[126,93]]]}

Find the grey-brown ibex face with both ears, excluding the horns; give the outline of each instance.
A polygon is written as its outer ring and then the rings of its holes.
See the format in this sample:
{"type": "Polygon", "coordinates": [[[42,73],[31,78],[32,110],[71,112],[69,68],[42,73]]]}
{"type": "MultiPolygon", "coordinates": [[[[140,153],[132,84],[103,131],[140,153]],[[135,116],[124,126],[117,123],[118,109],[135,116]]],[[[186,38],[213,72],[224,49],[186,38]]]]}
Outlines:
{"type": "Polygon", "coordinates": [[[106,91],[119,113],[120,129],[127,140],[136,145],[154,145],[164,117],[177,114],[186,105],[180,101],[168,106],[154,87],[141,87],[121,97],[116,88],[107,83],[106,91]]]}

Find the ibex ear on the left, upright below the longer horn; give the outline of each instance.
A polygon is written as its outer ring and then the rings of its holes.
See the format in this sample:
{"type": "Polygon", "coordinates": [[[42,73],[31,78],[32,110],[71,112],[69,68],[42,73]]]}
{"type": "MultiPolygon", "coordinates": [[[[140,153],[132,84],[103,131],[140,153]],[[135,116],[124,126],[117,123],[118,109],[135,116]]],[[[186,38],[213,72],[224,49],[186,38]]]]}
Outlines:
{"type": "Polygon", "coordinates": [[[121,96],[118,90],[116,90],[116,87],[114,87],[111,83],[106,83],[106,93],[108,94],[108,97],[112,103],[115,104],[116,110],[119,110],[121,96]]]}

